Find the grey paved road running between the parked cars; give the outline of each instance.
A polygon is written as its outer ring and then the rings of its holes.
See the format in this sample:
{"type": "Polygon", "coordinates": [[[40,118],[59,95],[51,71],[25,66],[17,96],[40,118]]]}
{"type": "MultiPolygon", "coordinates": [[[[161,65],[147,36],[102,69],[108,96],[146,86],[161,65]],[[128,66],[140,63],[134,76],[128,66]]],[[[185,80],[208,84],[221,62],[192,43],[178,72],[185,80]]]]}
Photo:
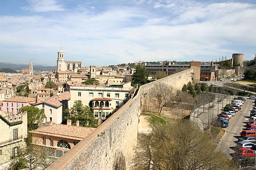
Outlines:
{"type": "Polygon", "coordinates": [[[236,146],[234,141],[237,141],[240,137],[240,132],[242,129],[245,129],[246,122],[250,117],[250,111],[254,104],[253,101],[254,100],[247,99],[242,105],[241,110],[236,113],[236,116],[230,119],[229,126],[225,129],[226,132],[221,139],[220,145],[230,156],[234,153],[234,147],[236,146]]]}

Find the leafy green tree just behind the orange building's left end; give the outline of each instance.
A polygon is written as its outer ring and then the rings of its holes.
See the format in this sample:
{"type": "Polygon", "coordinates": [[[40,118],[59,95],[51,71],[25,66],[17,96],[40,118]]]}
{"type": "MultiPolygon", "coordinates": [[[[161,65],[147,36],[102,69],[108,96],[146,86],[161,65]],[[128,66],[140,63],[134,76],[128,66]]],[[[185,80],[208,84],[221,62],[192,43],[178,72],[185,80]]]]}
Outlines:
{"type": "Polygon", "coordinates": [[[28,131],[38,128],[38,124],[42,123],[46,115],[43,109],[36,108],[32,105],[20,108],[21,112],[27,112],[27,129],[28,131]]]}

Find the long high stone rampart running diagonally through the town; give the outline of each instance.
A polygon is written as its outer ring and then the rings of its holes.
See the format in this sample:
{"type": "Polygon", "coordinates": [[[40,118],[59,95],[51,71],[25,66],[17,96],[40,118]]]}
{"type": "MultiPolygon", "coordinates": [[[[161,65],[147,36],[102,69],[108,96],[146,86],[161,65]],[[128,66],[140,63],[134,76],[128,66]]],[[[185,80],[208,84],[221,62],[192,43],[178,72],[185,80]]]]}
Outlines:
{"type": "Polygon", "coordinates": [[[135,96],[47,169],[128,169],[137,144],[141,102],[156,84],[180,90],[193,80],[193,68],[144,84],[135,96]]]}

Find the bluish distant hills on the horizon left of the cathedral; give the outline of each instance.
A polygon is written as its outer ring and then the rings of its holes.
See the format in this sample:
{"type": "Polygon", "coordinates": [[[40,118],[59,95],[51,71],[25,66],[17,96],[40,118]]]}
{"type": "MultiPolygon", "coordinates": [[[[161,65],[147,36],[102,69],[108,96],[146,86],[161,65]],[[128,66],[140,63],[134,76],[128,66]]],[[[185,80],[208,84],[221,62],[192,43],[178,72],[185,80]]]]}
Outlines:
{"type": "MultiPolygon", "coordinates": [[[[22,70],[27,69],[28,65],[16,65],[11,63],[2,63],[0,62],[1,68],[10,68],[13,70],[22,70]]],[[[34,71],[54,71],[56,70],[56,66],[42,66],[42,65],[33,65],[34,71]]]]}

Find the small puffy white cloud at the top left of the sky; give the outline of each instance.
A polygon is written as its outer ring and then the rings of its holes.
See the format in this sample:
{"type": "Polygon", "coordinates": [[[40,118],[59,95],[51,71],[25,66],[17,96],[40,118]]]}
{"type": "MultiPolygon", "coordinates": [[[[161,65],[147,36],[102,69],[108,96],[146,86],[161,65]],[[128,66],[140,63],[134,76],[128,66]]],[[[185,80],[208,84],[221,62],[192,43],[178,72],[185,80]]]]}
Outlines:
{"type": "Polygon", "coordinates": [[[35,12],[63,11],[64,7],[56,0],[27,0],[28,5],[23,7],[24,10],[35,12]]]}

